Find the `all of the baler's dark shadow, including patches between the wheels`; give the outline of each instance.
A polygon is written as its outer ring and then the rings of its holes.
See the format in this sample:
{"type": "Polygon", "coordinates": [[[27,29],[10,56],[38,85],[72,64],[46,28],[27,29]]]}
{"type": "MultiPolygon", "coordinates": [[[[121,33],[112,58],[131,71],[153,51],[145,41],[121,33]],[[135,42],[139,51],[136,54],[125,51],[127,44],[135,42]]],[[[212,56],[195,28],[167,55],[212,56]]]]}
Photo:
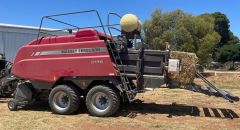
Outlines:
{"type": "MultiPolygon", "coordinates": [[[[5,100],[3,100],[6,103],[5,100]]],[[[48,111],[51,112],[47,101],[36,102],[28,107],[19,109],[20,111],[48,111]]],[[[85,104],[73,115],[87,113],[85,104]]],[[[239,115],[231,109],[225,108],[199,108],[197,106],[188,106],[185,104],[156,104],[145,103],[141,100],[136,100],[133,103],[123,104],[116,117],[123,116],[129,118],[135,118],[138,114],[167,114],[169,118],[173,116],[195,116],[195,117],[213,117],[213,118],[239,118],[239,115]],[[201,110],[201,111],[200,111],[201,110]],[[202,114],[201,114],[202,112],[202,114]]]]}

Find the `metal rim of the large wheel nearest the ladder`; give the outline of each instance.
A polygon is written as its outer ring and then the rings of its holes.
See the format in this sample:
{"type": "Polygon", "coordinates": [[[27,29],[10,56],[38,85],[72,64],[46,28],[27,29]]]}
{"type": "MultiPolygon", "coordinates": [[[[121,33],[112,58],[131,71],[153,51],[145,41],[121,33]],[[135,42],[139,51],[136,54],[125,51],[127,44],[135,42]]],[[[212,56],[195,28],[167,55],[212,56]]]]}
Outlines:
{"type": "Polygon", "coordinates": [[[110,106],[109,97],[103,92],[97,92],[92,96],[92,105],[95,110],[103,112],[110,106]]]}

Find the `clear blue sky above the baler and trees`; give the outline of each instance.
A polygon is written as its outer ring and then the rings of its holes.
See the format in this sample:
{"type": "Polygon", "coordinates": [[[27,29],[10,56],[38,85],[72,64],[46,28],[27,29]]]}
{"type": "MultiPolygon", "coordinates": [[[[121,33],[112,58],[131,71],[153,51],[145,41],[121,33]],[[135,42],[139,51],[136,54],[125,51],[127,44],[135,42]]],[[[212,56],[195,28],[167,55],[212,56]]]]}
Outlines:
{"type": "MultiPolygon", "coordinates": [[[[108,12],[134,13],[144,21],[156,8],[164,12],[181,9],[194,15],[220,11],[240,37],[239,0],[1,0],[0,23],[38,26],[41,16],[89,9],[98,10],[104,21],[108,12]]],[[[79,22],[87,24],[89,20],[79,22]]]]}

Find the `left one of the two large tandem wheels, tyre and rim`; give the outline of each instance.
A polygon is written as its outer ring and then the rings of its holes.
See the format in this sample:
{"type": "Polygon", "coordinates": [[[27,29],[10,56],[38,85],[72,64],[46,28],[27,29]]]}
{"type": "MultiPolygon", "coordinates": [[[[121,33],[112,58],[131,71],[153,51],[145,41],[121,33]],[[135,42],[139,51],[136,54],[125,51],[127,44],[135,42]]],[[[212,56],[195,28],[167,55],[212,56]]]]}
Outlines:
{"type": "Polygon", "coordinates": [[[49,105],[54,113],[69,115],[76,112],[80,106],[80,95],[75,87],[58,85],[49,95],[49,105]]]}

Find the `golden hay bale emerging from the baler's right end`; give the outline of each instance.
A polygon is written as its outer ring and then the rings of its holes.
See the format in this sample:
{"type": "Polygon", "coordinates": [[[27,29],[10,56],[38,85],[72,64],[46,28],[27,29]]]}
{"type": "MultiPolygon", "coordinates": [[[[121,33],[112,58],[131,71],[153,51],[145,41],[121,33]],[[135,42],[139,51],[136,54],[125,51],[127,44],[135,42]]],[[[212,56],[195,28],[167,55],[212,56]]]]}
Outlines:
{"type": "Polygon", "coordinates": [[[192,83],[196,73],[197,56],[194,53],[171,51],[171,59],[180,59],[181,69],[179,73],[169,72],[168,77],[185,85],[192,83]]]}

